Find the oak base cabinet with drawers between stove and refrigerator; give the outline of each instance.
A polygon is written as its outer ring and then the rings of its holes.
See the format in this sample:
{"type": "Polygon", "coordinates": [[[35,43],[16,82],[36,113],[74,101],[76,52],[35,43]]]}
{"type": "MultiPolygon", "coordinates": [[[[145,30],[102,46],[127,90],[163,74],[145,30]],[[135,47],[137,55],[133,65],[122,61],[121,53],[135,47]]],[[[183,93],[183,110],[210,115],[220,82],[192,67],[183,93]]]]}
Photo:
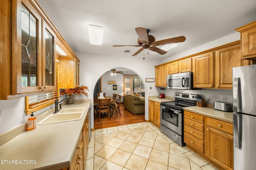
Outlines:
{"type": "Polygon", "coordinates": [[[186,146],[219,169],[233,169],[232,134],[232,123],[184,110],[186,146]]]}

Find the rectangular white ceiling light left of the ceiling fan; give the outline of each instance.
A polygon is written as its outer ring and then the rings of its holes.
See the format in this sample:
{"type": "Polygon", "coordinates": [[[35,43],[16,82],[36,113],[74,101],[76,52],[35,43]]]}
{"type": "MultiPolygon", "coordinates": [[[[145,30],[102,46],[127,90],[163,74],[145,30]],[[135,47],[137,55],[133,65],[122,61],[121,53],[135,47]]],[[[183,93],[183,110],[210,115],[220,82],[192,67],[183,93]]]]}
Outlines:
{"type": "Polygon", "coordinates": [[[92,45],[102,45],[104,29],[97,25],[88,25],[89,41],[92,45]]]}

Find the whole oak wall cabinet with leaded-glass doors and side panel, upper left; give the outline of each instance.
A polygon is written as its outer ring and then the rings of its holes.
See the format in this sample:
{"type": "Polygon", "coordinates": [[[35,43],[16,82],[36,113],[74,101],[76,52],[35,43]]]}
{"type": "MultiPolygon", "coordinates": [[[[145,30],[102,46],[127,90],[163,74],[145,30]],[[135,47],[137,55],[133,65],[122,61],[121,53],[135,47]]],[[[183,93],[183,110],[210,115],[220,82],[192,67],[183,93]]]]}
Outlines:
{"type": "MultiPolygon", "coordinates": [[[[74,52],[36,1],[0,3],[3,19],[0,38],[4,44],[0,57],[0,100],[53,92],[56,40],[64,44],[72,57],[74,52]]],[[[78,82],[74,84],[77,86],[78,82]]]]}

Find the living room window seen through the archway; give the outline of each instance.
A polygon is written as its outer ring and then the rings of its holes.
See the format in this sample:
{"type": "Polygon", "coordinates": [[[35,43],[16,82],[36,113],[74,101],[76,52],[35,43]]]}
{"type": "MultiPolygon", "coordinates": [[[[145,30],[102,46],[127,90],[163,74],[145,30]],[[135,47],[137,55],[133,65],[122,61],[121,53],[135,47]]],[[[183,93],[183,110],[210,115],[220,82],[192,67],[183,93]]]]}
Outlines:
{"type": "Polygon", "coordinates": [[[133,94],[144,91],[144,84],[138,76],[124,76],[124,94],[133,94]]]}

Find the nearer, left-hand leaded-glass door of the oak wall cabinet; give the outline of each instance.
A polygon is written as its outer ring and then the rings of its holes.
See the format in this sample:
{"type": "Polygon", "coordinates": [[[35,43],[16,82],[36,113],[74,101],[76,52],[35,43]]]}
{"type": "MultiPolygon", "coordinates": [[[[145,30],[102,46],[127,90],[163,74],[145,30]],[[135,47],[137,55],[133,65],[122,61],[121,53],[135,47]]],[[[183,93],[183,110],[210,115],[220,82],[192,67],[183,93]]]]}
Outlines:
{"type": "Polygon", "coordinates": [[[40,89],[42,19],[26,1],[17,4],[19,5],[21,11],[17,11],[17,63],[14,63],[17,69],[17,77],[14,76],[17,94],[42,91],[40,89]]]}

